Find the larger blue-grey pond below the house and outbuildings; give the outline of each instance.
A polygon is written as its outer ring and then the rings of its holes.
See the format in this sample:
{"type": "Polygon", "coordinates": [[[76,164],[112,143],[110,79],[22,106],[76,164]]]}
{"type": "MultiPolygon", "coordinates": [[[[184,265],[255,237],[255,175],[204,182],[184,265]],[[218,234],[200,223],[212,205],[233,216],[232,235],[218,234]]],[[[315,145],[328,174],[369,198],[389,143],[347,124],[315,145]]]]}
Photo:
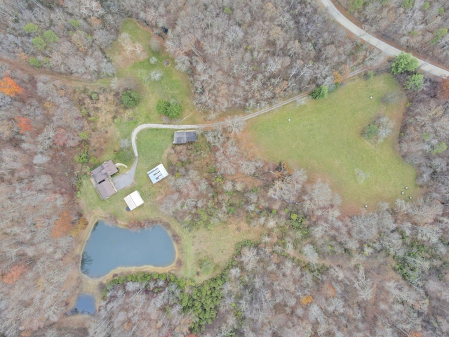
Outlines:
{"type": "Polygon", "coordinates": [[[161,225],[128,230],[99,220],[84,246],[81,272],[95,278],[117,267],[166,267],[175,257],[173,240],[161,225]]]}

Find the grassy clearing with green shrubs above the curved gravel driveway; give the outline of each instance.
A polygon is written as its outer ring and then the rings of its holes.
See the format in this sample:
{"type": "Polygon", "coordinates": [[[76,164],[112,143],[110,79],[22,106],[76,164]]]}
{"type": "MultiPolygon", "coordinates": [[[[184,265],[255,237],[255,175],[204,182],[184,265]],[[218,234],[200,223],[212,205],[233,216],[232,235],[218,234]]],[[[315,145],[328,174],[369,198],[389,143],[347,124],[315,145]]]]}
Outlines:
{"type": "MultiPolygon", "coordinates": [[[[135,84],[135,90],[139,91],[142,100],[137,107],[126,110],[124,114],[119,114],[119,117],[114,119],[114,124],[109,128],[109,133],[114,135],[110,138],[111,146],[103,152],[99,161],[114,159],[114,161],[121,161],[124,164],[132,164],[132,149],[128,149],[128,160],[115,157],[112,151],[119,149],[120,138],[130,139],[136,126],[163,122],[161,115],[156,112],[158,100],[177,100],[183,108],[180,117],[183,124],[199,124],[203,122],[203,119],[193,104],[194,94],[187,73],[180,72],[175,68],[175,60],[162,47],[160,51],[152,51],[149,47],[149,41],[157,39],[157,37],[152,37],[149,30],[138,25],[133,19],[123,20],[120,33],[128,34],[133,43],[141,44],[142,54],[137,55],[133,51],[128,53],[120,41],[114,41],[107,54],[112,58],[116,67],[115,77],[119,80],[130,79],[135,84]],[[156,58],[156,62],[152,64],[151,58],[156,58]],[[163,65],[164,60],[168,60],[168,66],[163,65]],[[154,71],[162,74],[159,81],[149,79],[149,74],[154,71]]],[[[96,84],[109,86],[111,81],[112,79],[101,79],[96,84]]]]}

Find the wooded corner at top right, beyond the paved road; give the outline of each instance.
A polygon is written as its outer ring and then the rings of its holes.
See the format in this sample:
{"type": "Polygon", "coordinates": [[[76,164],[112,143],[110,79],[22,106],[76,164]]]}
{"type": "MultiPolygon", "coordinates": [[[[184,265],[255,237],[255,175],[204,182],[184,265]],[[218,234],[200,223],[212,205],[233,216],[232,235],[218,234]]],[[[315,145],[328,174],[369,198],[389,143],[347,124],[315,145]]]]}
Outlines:
{"type": "Polygon", "coordinates": [[[337,0],[369,33],[448,67],[449,4],[444,0],[337,0]]]}

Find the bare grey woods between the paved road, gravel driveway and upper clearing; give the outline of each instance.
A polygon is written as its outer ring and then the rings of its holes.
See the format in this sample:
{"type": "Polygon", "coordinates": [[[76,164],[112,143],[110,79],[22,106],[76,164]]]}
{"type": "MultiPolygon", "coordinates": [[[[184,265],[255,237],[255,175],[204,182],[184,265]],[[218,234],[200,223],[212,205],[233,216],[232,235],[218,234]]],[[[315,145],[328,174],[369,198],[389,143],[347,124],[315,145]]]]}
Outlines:
{"type": "Polygon", "coordinates": [[[137,0],[121,2],[121,9],[166,40],[209,119],[333,85],[379,55],[349,39],[309,0],[137,0]]]}

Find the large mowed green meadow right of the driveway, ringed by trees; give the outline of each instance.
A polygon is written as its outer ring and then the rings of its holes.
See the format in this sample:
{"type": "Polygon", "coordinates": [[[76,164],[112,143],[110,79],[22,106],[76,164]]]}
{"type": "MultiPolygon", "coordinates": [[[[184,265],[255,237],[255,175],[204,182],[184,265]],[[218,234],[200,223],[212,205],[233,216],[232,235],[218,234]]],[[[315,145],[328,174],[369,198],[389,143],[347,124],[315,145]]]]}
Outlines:
{"type": "Polygon", "coordinates": [[[286,105],[251,121],[250,138],[262,157],[305,169],[309,180],[326,180],[348,210],[365,204],[373,209],[379,201],[416,197],[420,191],[415,169],[396,150],[405,98],[382,104],[384,95],[392,91],[401,91],[401,87],[389,74],[371,80],[356,78],[326,99],[309,100],[300,107],[286,105]],[[360,135],[380,113],[396,124],[391,136],[373,145],[360,135]],[[357,180],[358,170],[368,173],[365,181],[357,180]]]}

